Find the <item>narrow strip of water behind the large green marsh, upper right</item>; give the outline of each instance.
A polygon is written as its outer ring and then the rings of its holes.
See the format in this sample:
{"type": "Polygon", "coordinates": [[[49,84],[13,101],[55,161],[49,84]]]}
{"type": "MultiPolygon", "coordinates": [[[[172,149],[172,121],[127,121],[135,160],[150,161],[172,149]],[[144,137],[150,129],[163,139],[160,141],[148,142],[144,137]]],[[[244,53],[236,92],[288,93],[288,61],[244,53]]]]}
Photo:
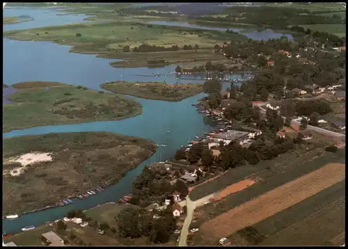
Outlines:
{"type": "MultiPolygon", "coordinates": [[[[228,28],[217,28],[217,27],[189,24],[187,22],[152,21],[149,23],[157,24],[157,25],[182,26],[187,28],[205,29],[205,30],[223,31],[223,32],[225,32],[228,29],[228,28]]],[[[246,35],[247,38],[250,38],[253,40],[276,39],[276,38],[280,38],[282,35],[285,35],[289,40],[294,40],[294,38],[290,34],[274,33],[274,31],[272,31],[271,29],[267,29],[265,31],[255,31],[255,30],[246,30],[246,29],[235,29],[235,28],[229,28],[229,29],[237,33],[242,33],[243,35],[246,35]]]]}

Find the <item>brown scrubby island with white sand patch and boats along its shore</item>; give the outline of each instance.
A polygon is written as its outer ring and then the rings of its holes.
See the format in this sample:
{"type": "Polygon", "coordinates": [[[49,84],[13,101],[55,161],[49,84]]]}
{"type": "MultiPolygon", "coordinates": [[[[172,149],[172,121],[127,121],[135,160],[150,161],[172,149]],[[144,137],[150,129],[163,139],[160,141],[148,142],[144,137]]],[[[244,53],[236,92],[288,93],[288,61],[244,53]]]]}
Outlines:
{"type": "Polygon", "coordinates": [[[107,132],[4,138],[3,215],[52,207],[116,184],[155,150],[151,140],[107,132]]]}

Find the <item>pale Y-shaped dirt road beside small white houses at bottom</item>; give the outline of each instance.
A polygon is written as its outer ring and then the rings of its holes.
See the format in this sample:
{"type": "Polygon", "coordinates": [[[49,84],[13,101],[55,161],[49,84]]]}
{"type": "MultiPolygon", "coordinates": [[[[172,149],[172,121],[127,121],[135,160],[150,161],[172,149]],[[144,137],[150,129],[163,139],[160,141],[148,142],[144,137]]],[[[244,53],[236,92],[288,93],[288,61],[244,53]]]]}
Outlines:
{"type": "Polygon", "coordinates": [[[212,198],[215,195],[215,193],[212,193],[211,195],[207,195],[203,198],[200,198],[199,200],[192,201],[189,198],[189,195],[187,195],[186,198],[186,207],[187,207],[187,216],[184,221],[184,225],[182,225],[182,230],[180,233],[180,240],[179,240],[179,246],[187,246],[187,234],[189,234],[189,227],[191,225],[191,221],[193,218],[193,211],[196,207],[203,206],[202,202],[209,202],[209,199],[212,198]]]}

